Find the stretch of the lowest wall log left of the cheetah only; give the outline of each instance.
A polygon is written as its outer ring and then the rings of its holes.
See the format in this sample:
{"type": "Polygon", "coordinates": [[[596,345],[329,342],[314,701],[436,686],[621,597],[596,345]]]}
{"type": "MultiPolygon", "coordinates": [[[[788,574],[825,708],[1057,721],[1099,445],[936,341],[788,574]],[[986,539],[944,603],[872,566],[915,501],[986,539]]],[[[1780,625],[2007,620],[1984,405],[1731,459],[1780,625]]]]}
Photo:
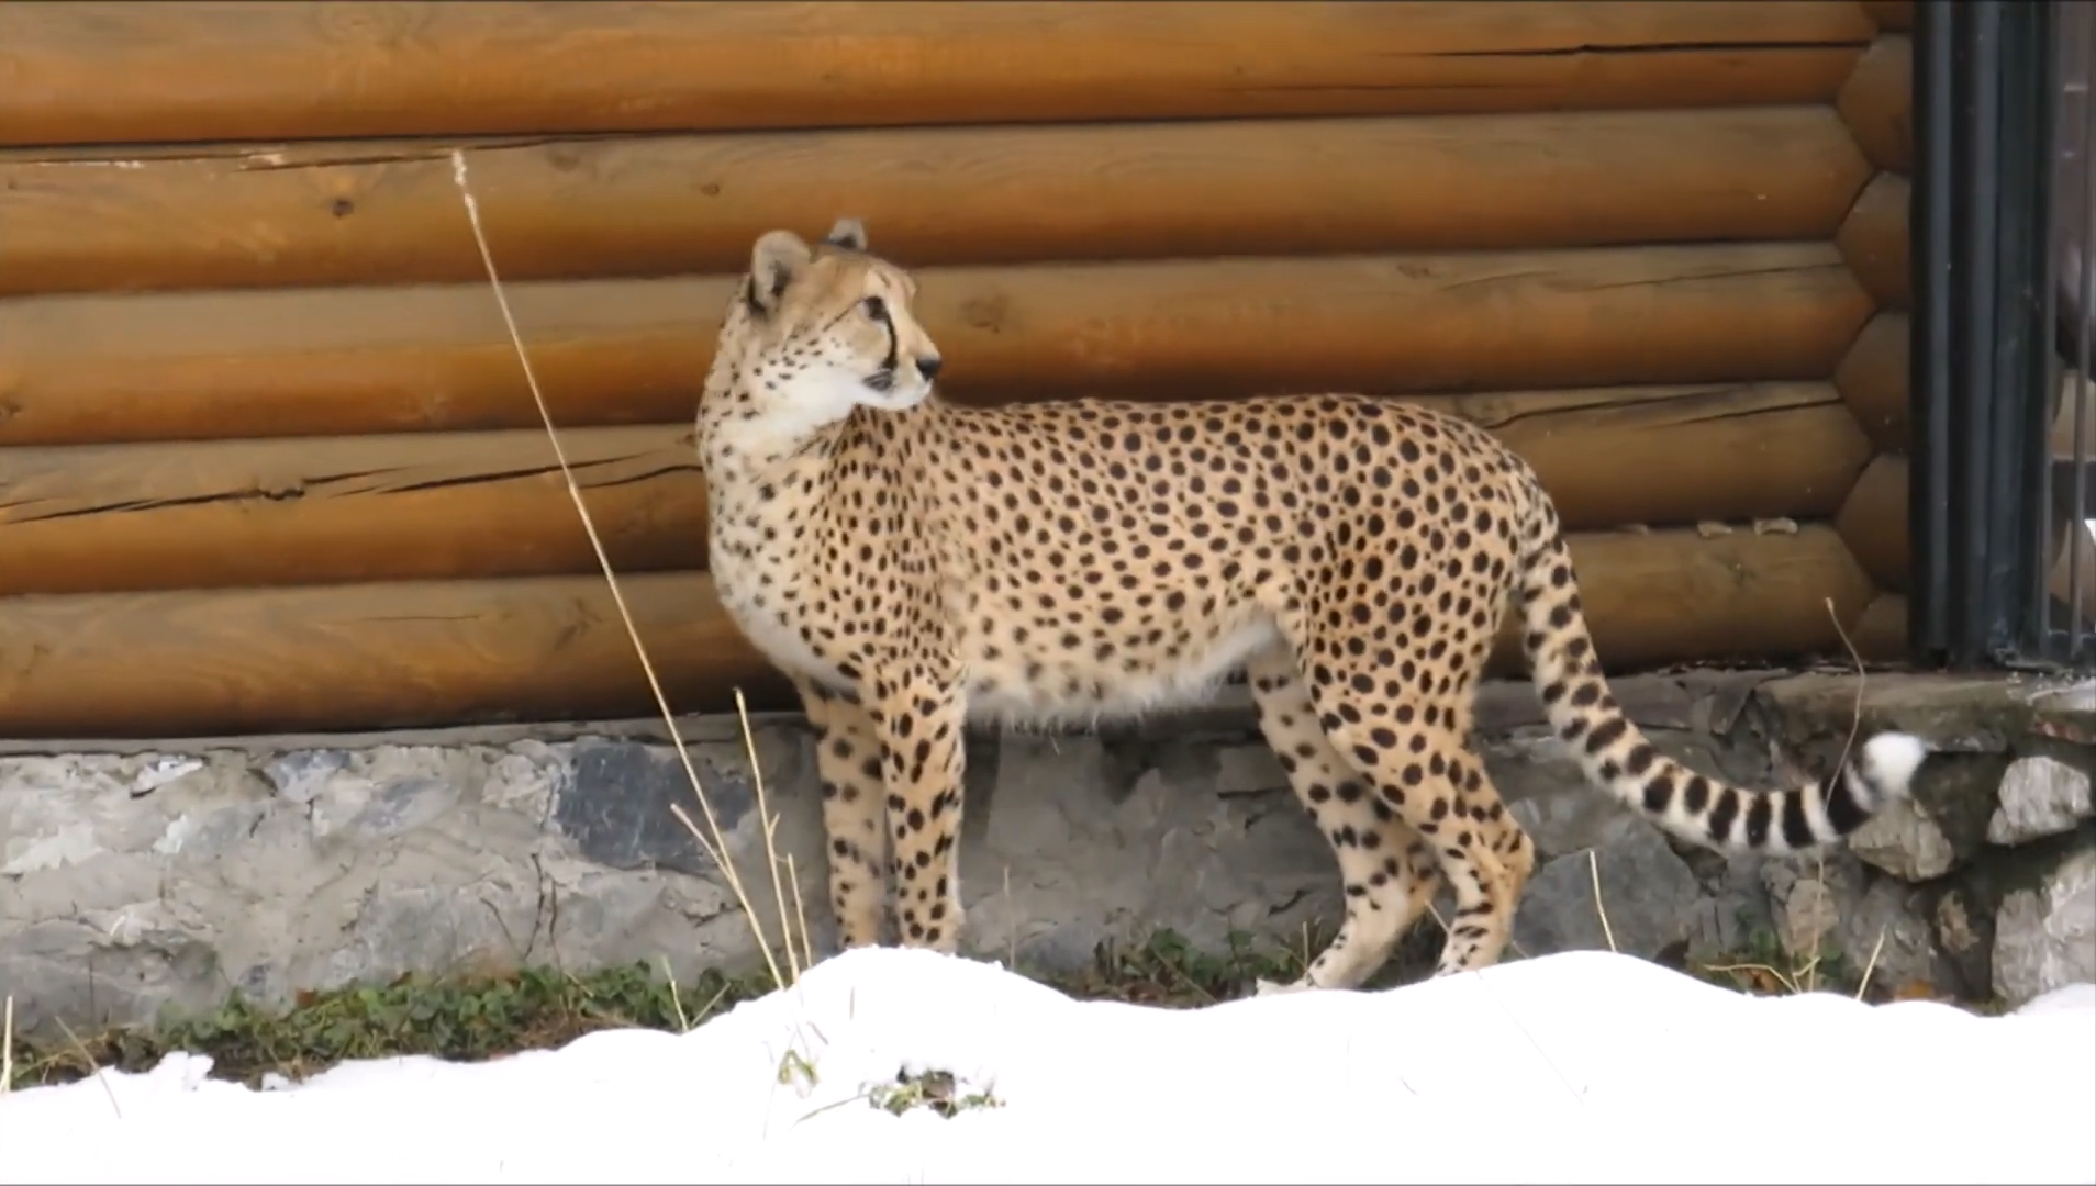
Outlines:
{"type": "MultiPolygon", "coordinates": [[[[677,712],[780,700],[704,574],[620,580],[677,712]]],[[[17,597],[0,735],[153,738],[654,717],[602,576],[17,597]]]]}

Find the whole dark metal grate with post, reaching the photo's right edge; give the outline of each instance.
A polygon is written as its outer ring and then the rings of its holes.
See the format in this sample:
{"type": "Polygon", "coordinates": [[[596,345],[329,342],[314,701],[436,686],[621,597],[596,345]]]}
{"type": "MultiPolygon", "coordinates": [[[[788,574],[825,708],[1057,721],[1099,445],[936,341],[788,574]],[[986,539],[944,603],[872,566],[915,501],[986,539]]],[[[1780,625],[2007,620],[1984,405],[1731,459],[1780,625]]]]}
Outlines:
{"type": "Polygon", "coordinates": [[[2096,666],[2096,19],[1922,0],[1914,36],[1912,641],[2096,666]]]}

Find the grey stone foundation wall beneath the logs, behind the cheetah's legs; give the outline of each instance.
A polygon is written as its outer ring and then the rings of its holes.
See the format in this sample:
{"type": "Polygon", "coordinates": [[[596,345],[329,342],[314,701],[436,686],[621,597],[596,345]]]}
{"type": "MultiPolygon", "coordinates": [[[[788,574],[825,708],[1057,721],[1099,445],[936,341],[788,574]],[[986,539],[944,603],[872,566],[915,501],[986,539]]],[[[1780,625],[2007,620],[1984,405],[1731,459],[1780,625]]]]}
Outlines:
{"type": "MultiPolygon", "coordinates": [[[[1784,673],[1616,689],[1662,750],[1748,782],[1826,769],[1857,702],[1853,679],[1784,673]]],[[[1863,727],[1888,725],[1945,750],[1914,809],[1824,859],[1727,861],[1587,790],[1526,683],[1488,687],[1492,775],[1545,855],[1518,951],[1832,947],[1855,968],[1876,951],[1878,983],[2012,1002],[2096,981],[2096,687],[1872,677],[1863,727]]],[[[778,935],[742,727],[679,731],[778,935]]],[[[752,742],[822,945],[813,740],[796,717],[763,717],[752,742]]],[[[985,733],[968,756],[977,953],[1067,968],[1153,928],[1300,943],[1337,920],[1331,853],[1237,700],[1092,735],[985,733]]],[[[15,744],[0,752],[0,993],[36,1033],[402,972],[757,966],[736,895],[673,805],[704,828],[658,723],[15,744]]]]}

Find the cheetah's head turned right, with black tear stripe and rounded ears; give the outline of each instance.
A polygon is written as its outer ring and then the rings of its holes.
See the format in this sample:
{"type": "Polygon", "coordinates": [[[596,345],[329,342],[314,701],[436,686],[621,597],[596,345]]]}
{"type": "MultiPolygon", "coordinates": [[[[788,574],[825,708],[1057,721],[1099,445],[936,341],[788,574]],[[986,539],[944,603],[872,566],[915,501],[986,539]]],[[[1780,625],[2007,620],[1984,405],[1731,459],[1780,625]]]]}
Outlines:
{"type": "Polygon", "coordinates": [[[857,218],[813,247],[792,230],[759,237],[738,300],[746,316],[732,319],[721,346],[742,339],[750,394],[778,404],[767,413],[815,425],[931,394],[939,348],[912,312],[916,279],[868,254],[857,218]]]}

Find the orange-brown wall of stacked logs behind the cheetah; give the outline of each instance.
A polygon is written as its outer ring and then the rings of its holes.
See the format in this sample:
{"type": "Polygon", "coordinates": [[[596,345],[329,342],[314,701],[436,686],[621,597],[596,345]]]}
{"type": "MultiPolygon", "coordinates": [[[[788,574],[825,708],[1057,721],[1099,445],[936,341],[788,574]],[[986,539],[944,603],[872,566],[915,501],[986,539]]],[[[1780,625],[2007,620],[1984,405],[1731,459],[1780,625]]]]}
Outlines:
{"type": "Polygon", "coordinates": [[[1893,658],[1905,17],[0,4],[0,735],[652,712],[453,147],[679,710],[782,694],[690,419],[750,241],[838,214],[952,398],[1429,402],[1536,465],[1612,666],[1893,658]]]}

